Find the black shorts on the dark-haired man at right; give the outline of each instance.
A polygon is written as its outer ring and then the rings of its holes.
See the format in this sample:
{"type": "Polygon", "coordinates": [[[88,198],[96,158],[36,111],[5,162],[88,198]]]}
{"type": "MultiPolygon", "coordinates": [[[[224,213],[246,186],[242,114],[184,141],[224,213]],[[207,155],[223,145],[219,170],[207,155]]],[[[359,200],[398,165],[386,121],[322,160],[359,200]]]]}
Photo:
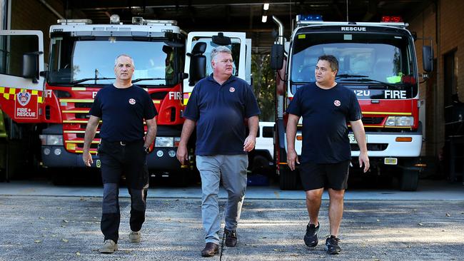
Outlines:
{"type": "Polygon", "coordinates": [[[318,188],[332,188],[334,190],[348,188],[350,160],[331,164],[303,163],[298,169],[301,185],[305,191],[318,188]]]}

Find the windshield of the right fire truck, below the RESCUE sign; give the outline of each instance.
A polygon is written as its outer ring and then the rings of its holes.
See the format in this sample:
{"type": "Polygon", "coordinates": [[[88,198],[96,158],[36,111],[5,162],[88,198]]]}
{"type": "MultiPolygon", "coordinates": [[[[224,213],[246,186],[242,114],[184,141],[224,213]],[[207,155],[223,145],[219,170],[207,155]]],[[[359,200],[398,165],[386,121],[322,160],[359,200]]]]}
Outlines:
{"type": "Polygon", "coordinates": [[[376,84],[376,88],[415,85],[417,88],[413,44],[406,35],[306,33],[296,37],[292,52],[292,85],[316,81],[314,70],[318,56],[331,54],[339,63],[338,83],[376,84]]]}

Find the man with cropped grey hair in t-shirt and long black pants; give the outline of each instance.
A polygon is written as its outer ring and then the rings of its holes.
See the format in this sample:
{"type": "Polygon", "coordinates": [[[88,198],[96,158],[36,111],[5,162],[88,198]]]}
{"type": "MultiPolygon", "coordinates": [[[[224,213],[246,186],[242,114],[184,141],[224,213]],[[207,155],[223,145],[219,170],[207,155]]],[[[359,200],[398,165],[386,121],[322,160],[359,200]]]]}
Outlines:
{"type": "Polygon", "coordinates": [[[82,158],[87,166],[94,163],[90,154],[91,141],[95,137],[100,119],[101,143],[98,153],[101,160],[101,179],[104,195],[101,215],[101,232],[104,245],[99,252],[112,253],[118,250],[119,180],[126,176],[131,195],[131,232],[129,241],[141,241],[141,227],[145,221],[146,193],[148,190],[148,168],[146,155],[156,136],[158,114],[148,93],[132,84],[135,66],[133,59],[121,54],[114,63],[116,81],[105,86],[96,94],[89,112],[90,118],[84,138],[82,158]],[[143,120],[147,131],[144,135],[143,120]]]}

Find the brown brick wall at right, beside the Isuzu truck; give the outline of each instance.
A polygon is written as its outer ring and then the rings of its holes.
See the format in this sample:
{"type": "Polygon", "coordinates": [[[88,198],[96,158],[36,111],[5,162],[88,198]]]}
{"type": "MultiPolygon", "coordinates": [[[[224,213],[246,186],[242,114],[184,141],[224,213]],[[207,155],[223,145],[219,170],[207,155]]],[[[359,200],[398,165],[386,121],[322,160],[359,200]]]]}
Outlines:
{"type": "MultiPolygon", "coordinates": [[[[409,29],[418,33],[418,38],[433,39],[433,50],[436,63],[431,78],[420,85],[420,98],[425,98],[426,108],[426,141],[425,154],[436,156],[445,145],[445,108],[444,108],[444,64],[443,56],[455,51],[457,61],[456,83],[458,98],[464,102],[464,34],[460,24],[464,14],[464,1],[440,0],[430,4],[422,13],[408,21],[409,29]]],[[[430,42],[430,41],[429,41],[430,42]]],[[[425,42],[425,44],[428,44],[425,42]]],[[[422,43],[416,41],[419,71],[422,67],[422,43]]]]}

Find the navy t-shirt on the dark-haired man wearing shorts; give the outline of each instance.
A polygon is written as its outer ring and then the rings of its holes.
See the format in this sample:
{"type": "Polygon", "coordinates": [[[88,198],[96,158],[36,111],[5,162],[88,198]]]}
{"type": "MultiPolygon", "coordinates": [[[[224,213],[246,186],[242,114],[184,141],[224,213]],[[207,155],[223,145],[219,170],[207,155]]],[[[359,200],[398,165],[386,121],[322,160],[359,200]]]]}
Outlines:
{"type": "Polygon", "coordinates": [[[340,84],[325,90],[310,83],[296,91],[287,113],[303,117],[301,163],[339,163],[351,158],[346,122],[362,118],[353,91],[340,84]]]}

